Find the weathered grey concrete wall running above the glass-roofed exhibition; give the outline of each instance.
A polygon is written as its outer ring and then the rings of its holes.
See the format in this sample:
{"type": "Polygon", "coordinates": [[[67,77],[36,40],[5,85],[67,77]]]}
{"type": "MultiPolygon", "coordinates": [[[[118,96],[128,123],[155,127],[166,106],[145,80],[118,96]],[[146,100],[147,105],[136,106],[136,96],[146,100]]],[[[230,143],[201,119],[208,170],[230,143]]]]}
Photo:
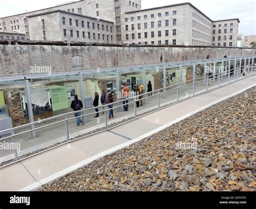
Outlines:
{"type": "Polygon", "coordinates": [[[128,65],[159,64],[183,60],[255,55],[252,48],[224,47],[124,47],[64,45],[0,45],[0,74],[29,73],[30,67],[51,66],[52,73],[128,65]],[[82,67],[72,67],[80,56],[82,67]]]}

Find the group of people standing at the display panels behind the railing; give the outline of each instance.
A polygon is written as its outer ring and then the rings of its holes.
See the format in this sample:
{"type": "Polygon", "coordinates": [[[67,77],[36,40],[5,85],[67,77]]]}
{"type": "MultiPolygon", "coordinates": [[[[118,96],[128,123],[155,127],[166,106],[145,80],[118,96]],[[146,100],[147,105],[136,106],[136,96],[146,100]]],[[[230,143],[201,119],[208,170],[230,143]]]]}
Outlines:
{"type": "MultiPolygon", "coordinates": [[[[139,104],[140,106],[143,106],[143,94],[145,93],[144,92],[144,86],[142,85],[142,83],[139,83],[135,86],[135,88],[133,89],[133,92],[134,92],[134,96],[136,96],[136,106],[139,107],[139,104]]],[[[149,81],[149,83],[147,84],[147,92],[149,92],[149,96],[152,96],[152,84],[151,84],[151,81],[149,81]]],[[[122,88],[122,100],[123,100],[123,107],[124,107],[124,111],[125,112],[128,112],[128,109],[129,109],[129,97],[130,97],[130,89],[129,87],[127,87],[127,84],[124,83],[123,84],[123,88],[122,88]]],[[[100,96],[100,103],[102,104],[103,106],[103,110],[105,110],[105,107],[107,105],[107,107],[109,107],[110,111],[109,111],[109,119],[113,119],[114,117],[114,113],[113,113],[113,93],[109,93],[109,94],[106,94],[105,90],[102,90],[102,94],[100,96]]],[[[98,106],[99,106],[99,94],[98,92],[95,92],[95,98],[92,102],[92,105],[95,108],[95,111],[96,111],[96,115],[95,117],[99,117],[99,109],[98,109],[98,106]]],[[[78,99],[78,96],[75,94],[75,99],[72,101],[71,103],[71,108],[74,110],[74,112],[78,112],[79,110],[82,110],[83,108],[83,103],[82,101],[80,101],[78,99]]],[[[105,112],[103,112],[102,114],[105,114],[105,112]]],[[[80,115],[81,113],[75,113],[75,117],[77,117],[77,126],[80,126],[80,124],[84,125],[84,121],[82,119],[80,119],[80,115]]]]}

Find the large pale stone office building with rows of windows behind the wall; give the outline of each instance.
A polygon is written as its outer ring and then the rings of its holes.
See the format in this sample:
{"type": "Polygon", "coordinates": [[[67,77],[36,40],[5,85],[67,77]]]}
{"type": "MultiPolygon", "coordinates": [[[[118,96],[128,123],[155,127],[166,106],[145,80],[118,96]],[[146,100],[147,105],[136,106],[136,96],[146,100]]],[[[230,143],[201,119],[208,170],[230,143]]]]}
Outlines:
{"type": "Polygon", "coordinates": [[[87,0],[0,18],[27,40],[237,46],[239,19],[213,21],[191,3],[142,9],[141,0],[87,0]]]}

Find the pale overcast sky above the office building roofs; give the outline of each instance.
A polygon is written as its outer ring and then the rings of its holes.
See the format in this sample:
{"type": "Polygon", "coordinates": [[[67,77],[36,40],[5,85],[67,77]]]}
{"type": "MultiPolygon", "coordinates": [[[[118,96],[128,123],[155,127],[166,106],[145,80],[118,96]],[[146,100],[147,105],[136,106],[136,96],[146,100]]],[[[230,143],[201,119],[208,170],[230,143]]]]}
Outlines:
{"type": "MultiPolygon", "coordinates": [[[[72,1],[72,0],[71,0],[72,1]]],[[[107,0],[106,0],[107,1],[107,0]]],[[[0,0],[0,17],[24,13],[69,0],[0,0]]],[[[239,18],[239,33],[256,34],[256,1],[255,0],[142,0],[142,9],[156,6],[190,2],[212,20],[239,18]]]]}

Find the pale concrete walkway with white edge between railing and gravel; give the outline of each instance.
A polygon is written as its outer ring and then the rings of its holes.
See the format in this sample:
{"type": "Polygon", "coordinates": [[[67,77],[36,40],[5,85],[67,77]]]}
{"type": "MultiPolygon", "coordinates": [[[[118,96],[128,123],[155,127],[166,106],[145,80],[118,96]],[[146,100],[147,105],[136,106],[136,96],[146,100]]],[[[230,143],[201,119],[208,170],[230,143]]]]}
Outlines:
{"type": "Polygon", "coordinates": [[[6,166],[0,169],[0,191],[35,190],[72,170],[142,140],[255,84],[256,76],[250,76],[145,115],[109,131],[84,137],[6,166]]]}

